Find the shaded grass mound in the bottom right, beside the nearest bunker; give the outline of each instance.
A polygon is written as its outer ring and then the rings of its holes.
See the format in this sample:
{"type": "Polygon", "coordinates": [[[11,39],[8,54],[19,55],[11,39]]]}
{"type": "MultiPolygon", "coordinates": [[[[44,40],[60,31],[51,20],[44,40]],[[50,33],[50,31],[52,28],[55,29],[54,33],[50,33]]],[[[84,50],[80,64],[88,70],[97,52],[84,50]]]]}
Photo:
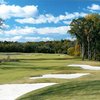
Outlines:
{"type": "Polygon", "coordinates": [[[100,80],[62,83],[31,92],[18,100],[99,100],[100,80]]]}

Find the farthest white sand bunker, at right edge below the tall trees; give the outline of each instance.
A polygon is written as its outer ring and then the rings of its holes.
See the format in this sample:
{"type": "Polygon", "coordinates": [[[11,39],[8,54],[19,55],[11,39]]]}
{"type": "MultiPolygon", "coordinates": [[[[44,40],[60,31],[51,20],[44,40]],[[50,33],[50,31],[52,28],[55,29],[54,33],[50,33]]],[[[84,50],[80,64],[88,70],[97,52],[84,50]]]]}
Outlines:
{"type": "Polygon", "coordinates": [[[100,70],[99,66],[90,66],[90,65],[80,65],[80,64],[71,64],[68,66],[73,66],[73,67],[81,67],[83,69],[88,69],[88,70],[100,70]]]}

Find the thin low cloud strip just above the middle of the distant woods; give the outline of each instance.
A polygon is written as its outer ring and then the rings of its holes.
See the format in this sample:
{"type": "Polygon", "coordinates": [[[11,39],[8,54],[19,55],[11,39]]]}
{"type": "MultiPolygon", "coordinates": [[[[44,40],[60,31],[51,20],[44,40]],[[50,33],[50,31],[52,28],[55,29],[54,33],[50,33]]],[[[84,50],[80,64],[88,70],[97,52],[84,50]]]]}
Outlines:
{"type": "Polygon", "coordinates": [[[52,41],[53,38],[50,37],[25,37],[26,41],[52,41]]]}

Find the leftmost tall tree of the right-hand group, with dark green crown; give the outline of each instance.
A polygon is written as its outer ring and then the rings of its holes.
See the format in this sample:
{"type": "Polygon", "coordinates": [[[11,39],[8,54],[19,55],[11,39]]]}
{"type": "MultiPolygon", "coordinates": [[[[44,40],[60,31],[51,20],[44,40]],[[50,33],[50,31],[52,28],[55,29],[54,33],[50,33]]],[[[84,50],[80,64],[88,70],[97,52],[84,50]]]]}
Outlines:
{"type": "Polygon", "coordinates": [[[71,33],[73,36],[77,38],[81,46],[82,60],[84,60],[85,58],[85,44],[86,44],[86,35],[84,34],[85,24],[86,24],[85,18],[74,19],[70,24],[71,29],[69,30],[69,33],[71,33]]]}

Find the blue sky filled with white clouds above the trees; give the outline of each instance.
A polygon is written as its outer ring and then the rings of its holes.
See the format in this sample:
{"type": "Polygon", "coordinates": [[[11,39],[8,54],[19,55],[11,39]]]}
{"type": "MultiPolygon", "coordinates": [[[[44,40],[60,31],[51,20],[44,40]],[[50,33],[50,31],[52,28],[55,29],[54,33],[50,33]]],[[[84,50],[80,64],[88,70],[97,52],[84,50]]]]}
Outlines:
{"type": "Polygon", "coordinates": [[[70,39],[70,22],[100,13],[100,0],[0,0],[0,41],[70,39]]]}

